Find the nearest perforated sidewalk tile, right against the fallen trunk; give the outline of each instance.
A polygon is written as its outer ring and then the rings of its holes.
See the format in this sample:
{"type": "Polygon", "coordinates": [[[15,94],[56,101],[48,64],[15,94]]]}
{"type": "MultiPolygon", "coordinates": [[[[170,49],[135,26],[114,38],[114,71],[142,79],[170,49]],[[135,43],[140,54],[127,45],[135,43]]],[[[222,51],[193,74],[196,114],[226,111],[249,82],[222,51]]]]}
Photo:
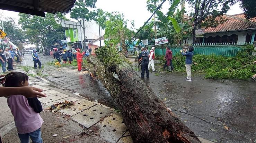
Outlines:
{"type": "Polygon", "coordinates": [[[122,115],[114,112],[99,124],[99,135],[108,142],[116,143],[126,132],[127,127],[123,122],[122,115]]]}

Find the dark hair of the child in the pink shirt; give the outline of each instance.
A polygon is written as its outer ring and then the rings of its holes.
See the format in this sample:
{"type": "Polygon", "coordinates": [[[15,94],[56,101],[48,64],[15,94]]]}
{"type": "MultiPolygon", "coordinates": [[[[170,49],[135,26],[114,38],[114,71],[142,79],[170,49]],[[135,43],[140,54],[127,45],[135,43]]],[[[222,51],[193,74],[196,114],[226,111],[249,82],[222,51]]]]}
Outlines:
{"type": "Polygon", "coordinates": [[[11,72],[8,73],[6,76],[12,74],[11,76],[6,78],[5,83],[3,86],[5,87],[20,87],[21,82],[26,82],[28,80],[28,76],[22,72],[11,72]]]}

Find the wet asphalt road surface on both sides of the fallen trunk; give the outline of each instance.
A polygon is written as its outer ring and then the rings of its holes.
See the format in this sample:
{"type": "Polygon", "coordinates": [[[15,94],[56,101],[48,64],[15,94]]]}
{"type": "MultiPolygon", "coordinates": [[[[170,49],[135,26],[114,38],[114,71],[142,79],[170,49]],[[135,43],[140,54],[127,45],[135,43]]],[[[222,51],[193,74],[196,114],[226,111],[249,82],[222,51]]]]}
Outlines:
{"type": "MultiPolygon", "coordinates": [[[[99,81],[73,67],[57,68],[45,65],[52,58],[39,55],[47,80],[66,90],[78,92],[89,100],[115,106],[99,81]],[[53,78],[65,76],[61,78],[53,78]]],[[[33,66],[30,54],[23,65],[33,66]]],[[[156,67],[158,70],[161,67],[156,67]]],[[[140,75],[140,71],[137,71],[140,75]]],[[[218,143],[256,142],[256,82],[252,80],[208,80],[194,74],[185,81],[186,73],[150,72],[145,83],[168,108],[195,134],[218,143]],[[156,74],[158,73],[158,74],[156,74]],[[229,130],[225,129],[228,127],[229,130]]]]}

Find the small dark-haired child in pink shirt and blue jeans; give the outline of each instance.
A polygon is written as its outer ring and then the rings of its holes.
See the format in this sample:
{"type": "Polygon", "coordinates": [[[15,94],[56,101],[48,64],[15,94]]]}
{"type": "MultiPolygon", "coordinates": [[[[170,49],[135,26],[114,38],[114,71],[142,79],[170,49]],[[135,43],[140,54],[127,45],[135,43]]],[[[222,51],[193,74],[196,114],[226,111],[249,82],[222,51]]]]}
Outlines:
{"type": "MultiPolygon", "coordinates": [[[[3,86],[20,87],[28,86],[28,76],[21,72],[11,72],[3,86]]],[[[14,116],[15,126],[21,143],[29,143],[29,137],[33,143],[43,143],[41,138],[41,126],[43,119],[38,114],[42,105],[37,98],[26,98],[23,95],[13,95],[7,99],[8,106],[14,116]]]]}

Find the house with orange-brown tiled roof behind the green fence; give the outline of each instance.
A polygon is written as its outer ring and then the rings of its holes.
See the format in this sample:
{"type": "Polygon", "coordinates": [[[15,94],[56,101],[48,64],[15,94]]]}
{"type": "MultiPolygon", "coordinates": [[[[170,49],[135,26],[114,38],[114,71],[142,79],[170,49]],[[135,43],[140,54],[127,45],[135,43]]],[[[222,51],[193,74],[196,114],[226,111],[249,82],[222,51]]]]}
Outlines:
{"type": "MultiPolygon", "coordinates": [[[[215,28],[206,28],[204,38],[199,38],[199,43],[253,43],[256,41],[256,18],[246,20],[245,15],[235,14],[222,16],[226,21],[215,28]]],[[[219,20],[220,18],[218,18],[219,20]]],[[[193,37],[186,39],[192,44],[193,37]]]]}

